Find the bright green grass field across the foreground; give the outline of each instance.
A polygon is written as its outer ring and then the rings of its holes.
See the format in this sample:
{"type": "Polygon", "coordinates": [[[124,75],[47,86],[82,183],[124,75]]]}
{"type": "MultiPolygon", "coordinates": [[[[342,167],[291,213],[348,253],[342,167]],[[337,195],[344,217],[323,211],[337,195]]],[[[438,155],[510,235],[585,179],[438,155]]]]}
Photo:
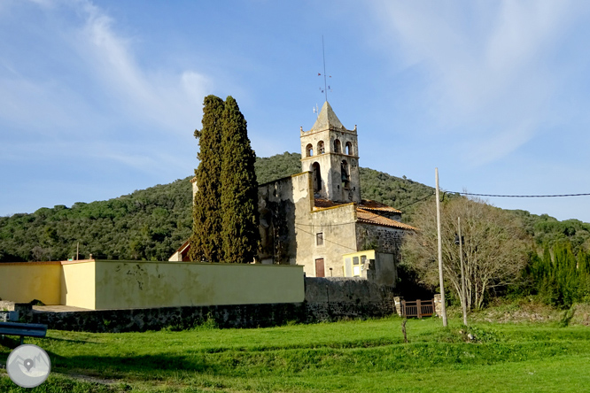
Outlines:
{"type": "MultiPolygon", "coordinates": [[[[355,320],[279,328],[90,334],[29,339],[50,354],[48,381],[0,392],[583,392],[590,328],[438,319],[355,320]]],[[[10,343],[0,346],[5,364],[10,343]]]]}

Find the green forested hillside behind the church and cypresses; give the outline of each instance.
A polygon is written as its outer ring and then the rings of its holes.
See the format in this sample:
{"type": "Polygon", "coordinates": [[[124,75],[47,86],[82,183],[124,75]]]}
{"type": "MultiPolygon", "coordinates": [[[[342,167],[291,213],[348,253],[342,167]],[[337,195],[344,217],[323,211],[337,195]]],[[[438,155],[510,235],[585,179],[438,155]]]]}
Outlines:
{"type": "MultiPolygon", "coordinates": [[[[288,152],[257,158],[258,181],[299,173],[299,158],[288,152]]],[[[433,189],[421,183],[369,168],[361,167],[360,173],[361,196],[399,208],[408,222],[416,206],[433,200],[433,189]]],[[[0,261],[72,258],[77,243],[80,258],[92,253],[95,258],[167,260],[190,235],[190,177],[107,201],[0,217],[0,261]]],[[[570,240],[574,250],[590,246],[590,224],[513,214],[540,245],[570,240]]]]}

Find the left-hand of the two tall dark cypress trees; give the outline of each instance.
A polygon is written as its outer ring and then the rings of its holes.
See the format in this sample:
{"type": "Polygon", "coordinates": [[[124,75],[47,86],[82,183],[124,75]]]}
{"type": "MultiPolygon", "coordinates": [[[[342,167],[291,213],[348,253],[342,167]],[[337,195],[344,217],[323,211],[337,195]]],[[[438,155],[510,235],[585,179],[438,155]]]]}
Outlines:
{"type": "Polygon", "coordinates": [[[203,103],[203,127],[198,138],[198,191],[192,208],[190,260],[221,262],[221,129],[223,100],[206,96],[203,103]]]}

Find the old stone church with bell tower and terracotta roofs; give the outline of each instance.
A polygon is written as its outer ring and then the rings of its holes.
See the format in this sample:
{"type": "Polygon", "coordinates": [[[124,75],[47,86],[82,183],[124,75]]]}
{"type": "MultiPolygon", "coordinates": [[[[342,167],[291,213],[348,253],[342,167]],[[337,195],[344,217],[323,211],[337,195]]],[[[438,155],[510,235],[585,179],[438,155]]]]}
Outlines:
{"type": "MultiPolygon", "coordinates": [[[[300,129],[300,140],[301,173],[259,186],[256,262],[301,265],[307,277],[365,277],[394,286],[401,239],[415,228],[400,221],[399,210],[361,199],[356,126],[345,128],[325,102],[314,126],[300,129]]],[[[187,260],[189,247],[182,244],[170,260],[187,260]]]]}

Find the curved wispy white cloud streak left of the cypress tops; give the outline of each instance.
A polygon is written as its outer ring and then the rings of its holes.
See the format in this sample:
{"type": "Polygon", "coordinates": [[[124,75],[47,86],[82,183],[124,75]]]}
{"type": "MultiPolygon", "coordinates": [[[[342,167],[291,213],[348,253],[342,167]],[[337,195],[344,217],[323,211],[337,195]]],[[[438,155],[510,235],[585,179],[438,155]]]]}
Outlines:
{"type": "Polygon", "coordinates": [[[212,82],[194,70],[142,69],[133,56],[133,40],[118,35],[113,19],[97,6],[82,4],[86,21],[75,45],[113,99],[136,119],[155,121],[159,127],[184,132],[194,125],[212,82]]]}

